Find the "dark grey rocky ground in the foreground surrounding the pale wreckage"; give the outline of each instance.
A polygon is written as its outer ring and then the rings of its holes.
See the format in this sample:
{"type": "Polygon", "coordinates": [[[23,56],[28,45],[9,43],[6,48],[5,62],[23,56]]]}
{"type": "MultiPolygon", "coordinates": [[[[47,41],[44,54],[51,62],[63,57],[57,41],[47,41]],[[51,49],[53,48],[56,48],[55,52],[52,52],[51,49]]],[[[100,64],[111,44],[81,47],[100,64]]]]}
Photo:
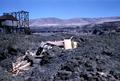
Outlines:
{"type": "Polygon", "coordinates": [[[0,81],[120,81],[120,33],[75,36],[0,34],[0,81]],[[36,66],[13,76],[12,62],[29,50],[38,49],[41,41],[75,37],[79,47],[47,50],[36,66]]]}

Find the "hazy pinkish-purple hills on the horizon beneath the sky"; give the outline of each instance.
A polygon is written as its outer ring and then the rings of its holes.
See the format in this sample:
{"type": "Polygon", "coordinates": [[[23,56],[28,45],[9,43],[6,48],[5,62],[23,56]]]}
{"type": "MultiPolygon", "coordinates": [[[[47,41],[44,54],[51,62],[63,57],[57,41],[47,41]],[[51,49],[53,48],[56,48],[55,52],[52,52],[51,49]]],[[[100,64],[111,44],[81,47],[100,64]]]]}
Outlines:
{"type": "Polygon", "coordinates": [[[100,24],[103,22],[120,21],[120,17],[101,17],[101,18],[72,18],[59,19],[54,17],[30,19],[31,27],[41,26],[81,26],[87,24],[100,24]]]}

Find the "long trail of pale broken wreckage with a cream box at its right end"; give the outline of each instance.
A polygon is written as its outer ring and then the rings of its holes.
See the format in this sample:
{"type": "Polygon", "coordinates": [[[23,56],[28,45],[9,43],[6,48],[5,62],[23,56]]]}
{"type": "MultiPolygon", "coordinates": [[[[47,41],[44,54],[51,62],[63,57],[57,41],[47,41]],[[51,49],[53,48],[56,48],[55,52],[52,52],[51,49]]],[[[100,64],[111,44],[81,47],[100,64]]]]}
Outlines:
{"type": "Polygon", "coordinates": [[[72,38],[73,37],[70,39],[64,39],[63,41],[41,42],[38,50],[34,52],[27,50],[24,56],[19,57],[15,63],[12,63],[12,73],[17,75],[24,70],[29,70],[30,66],[39,65],[41,59],[49,55],[47,50],[52,49],[53,46],[57,46],[65,50],[77,48],[78,43],[73,41],[72,38]]]}

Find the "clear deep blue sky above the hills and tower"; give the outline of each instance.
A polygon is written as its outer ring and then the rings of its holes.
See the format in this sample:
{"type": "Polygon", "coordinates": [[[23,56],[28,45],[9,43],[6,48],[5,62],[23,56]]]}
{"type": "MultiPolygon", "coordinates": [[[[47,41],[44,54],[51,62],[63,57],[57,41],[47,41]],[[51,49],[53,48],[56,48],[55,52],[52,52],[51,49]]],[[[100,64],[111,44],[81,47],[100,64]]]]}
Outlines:
{"type": "Polygon", "coordinates": [[[0,0],[0,15],[21,10],[30,19],[120,16],[120,0],[0,0]]]}

